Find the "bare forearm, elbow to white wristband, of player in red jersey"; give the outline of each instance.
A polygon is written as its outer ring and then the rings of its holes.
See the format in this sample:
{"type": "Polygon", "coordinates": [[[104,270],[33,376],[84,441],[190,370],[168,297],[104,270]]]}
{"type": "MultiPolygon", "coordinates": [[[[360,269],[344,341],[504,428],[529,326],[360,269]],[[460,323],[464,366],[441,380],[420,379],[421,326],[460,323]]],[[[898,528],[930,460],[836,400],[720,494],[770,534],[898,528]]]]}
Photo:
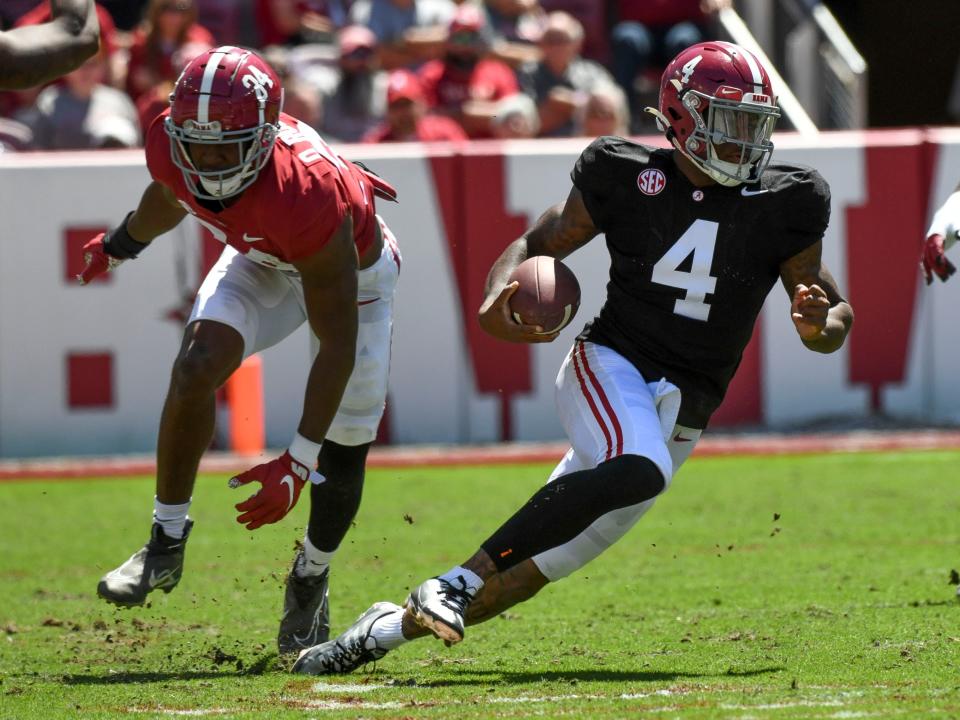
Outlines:
{"type": "Polygon", "coordinates": [[[344,327],[320,341],[320,350],[307,378],[303,416],[297,427],[297,432],[308,440],[323,442],[330,429],[353,372],[356,340],[354,324],[352,333],[344,327]]]}

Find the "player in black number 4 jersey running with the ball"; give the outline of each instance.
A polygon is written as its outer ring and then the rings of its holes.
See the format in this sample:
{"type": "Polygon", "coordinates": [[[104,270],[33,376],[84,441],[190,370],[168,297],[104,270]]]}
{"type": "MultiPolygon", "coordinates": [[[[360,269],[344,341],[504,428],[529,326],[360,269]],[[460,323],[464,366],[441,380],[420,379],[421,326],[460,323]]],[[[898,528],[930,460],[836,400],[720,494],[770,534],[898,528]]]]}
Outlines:
{"type": "Polygon", "coordinates": [[[843,344],[853,311],[821,261],[829,190],[811,168],[770,163],[779,111],[760,62],[729,43],[693,45],[667,66],[659,109],[650,110],[672,149],[595,140],[566,201],[487,277],[484,330],[550,342],[556,334],[512,319],[511,272],[606,236],[606,302],[557,377],[570,450],[463,565],[416,587],[405,608],[377,603],[339,638],[305,651],[295,671],[349,672],[426,634],[459,642],[465,625],[532,597],[620,539],[690,456],[778,279],[800,342],[824,353],[843,344]]]}

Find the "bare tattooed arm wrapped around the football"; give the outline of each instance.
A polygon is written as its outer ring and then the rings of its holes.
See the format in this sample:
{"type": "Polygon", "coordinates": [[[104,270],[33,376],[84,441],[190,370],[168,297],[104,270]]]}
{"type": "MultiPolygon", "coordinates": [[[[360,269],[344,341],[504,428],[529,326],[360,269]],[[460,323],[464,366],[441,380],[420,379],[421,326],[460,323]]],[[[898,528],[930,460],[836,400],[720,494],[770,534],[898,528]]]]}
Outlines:
{"type": "Polygon", "coordinates": [[[572,188],[566,202],[554,205],[519,238],[510,243],[487,273],[486,296],[480,306],[480,327],[493,337],[508,342],[552,342],[559,333],[539,334],[537,325],[517,323],[510,313],[510,296],[518,283],[507,281],[517,265],[535,255],[562,260],[590,242],[600,231],[583,204],[583,196],[572,188]]]}

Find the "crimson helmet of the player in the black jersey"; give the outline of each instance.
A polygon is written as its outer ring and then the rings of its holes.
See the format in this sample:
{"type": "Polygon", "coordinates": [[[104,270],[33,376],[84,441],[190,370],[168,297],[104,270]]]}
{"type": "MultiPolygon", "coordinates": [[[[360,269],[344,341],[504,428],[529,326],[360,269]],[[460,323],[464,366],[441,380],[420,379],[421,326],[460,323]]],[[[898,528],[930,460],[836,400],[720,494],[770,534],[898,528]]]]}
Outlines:
{"type": "Polygon", "coordinates": [[[647,108],[674,147],[721,185],[756,182],[770,162],[780,110],[770,75],[727,42],[691,45],[660,80],[660,108],[647,108]]]}

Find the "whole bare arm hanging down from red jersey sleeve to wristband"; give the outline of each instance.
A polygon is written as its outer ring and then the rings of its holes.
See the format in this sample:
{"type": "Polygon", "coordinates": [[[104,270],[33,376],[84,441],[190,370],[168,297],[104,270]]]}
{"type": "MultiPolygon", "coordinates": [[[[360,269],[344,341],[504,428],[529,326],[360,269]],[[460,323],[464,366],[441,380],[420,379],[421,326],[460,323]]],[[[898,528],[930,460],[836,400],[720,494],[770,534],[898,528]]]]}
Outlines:
{"type": "Polygon", "coordinates": [[[294,262],[303,281],[310,329],[320,349],[307,379],[297,431],[323,442],[353,372],[357,344],[357,247],[349,215],[323,248],[294,262]]]}

